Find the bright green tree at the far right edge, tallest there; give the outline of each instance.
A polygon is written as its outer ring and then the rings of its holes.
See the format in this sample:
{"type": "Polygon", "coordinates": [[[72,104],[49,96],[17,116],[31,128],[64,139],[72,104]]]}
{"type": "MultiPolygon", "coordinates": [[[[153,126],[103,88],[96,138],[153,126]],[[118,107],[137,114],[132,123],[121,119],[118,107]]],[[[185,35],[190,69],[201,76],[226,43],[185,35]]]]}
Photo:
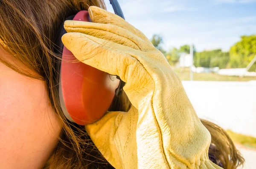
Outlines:
{"type": "MultiPolygon", "coordinates": [[[[256,55],[256,35],[241,36],[241,40],[230,48],[231,68],[246,68],[253,57],[256,55]]],[[[256,70],[256,63],[249,71],[256,70]]]]}

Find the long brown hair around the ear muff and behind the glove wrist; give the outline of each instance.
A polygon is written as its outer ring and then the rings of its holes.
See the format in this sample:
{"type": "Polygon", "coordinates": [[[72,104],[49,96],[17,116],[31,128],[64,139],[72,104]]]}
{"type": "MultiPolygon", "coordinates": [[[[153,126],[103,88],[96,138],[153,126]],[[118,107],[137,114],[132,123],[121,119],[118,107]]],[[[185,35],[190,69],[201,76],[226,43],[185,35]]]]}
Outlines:
{"type": "MultiPolygon", "coordinates": [[[[103,0],[1,0],[0,46],[23,63],[21,69],[0,57],[0,62],[13,70],[45,82],[49,98],[62,124],[60,141],[44,168],[112,168],[94,146],[84,127],[64,117],[54,83],[55,34],[64,19],[89,6],[105,8],[103,0]],[[32,70],[32,71],[31,71],[32,70]]],[[[125,93],[115,99],[110,110],[128,111],[131,103],[125,93]]],[[[201,120],[212,135],[214,149],[209,153],[224,168],[234,169],[244,163],[227,133],[209,121],[201,120]]]]}

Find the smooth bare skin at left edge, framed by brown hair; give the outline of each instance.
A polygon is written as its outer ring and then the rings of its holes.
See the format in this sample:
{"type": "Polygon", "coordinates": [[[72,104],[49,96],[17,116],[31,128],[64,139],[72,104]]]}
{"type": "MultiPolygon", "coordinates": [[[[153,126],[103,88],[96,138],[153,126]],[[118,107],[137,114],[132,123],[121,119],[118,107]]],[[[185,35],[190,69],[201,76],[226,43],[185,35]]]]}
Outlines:
{"type": "MultiPolygon", "coordinates": [[[[0,55],[12,57],[3,49],[0,55]]],[[[0,168],[42,168],[60,132],[44,82],[0,62],[0,168]]]]}

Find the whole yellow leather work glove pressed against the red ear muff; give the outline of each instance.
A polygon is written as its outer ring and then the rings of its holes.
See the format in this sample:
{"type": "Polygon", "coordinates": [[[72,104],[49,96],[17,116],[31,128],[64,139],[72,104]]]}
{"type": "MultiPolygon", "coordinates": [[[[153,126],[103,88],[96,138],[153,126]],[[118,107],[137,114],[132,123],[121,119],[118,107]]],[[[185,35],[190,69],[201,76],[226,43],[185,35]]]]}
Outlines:
{"type": "Polygon", "coordinates": [[[221,168],[209,161],[211,137],[180,79],[143,33],[91,6],[93,23],[66,21],[64,45],[81,62],[118,75],[133,107],[108,112],[86,130],[116,169],[221,168]]]}

